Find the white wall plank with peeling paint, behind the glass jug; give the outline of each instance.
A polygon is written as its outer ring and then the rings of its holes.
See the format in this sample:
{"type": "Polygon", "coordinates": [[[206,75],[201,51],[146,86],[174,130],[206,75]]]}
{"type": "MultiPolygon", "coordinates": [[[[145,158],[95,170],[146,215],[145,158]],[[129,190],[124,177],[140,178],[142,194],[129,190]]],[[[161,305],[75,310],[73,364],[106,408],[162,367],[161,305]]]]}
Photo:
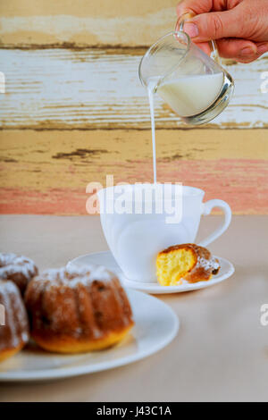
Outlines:
{"type": "MultiPolygon", "coordinates": [[[[134,50],[0,50],[6,77],[1,97],[3,128],[107,129],[150,127],[147,92],[138,80],[141,55],[134,50]]],[[[268,127],[268,93],[261,79],[268,57],[230,64],[236,81],[228,108],[207,127],[268,127]]],[[[187,126],[156,97],[158,128],[187,126]]]]}

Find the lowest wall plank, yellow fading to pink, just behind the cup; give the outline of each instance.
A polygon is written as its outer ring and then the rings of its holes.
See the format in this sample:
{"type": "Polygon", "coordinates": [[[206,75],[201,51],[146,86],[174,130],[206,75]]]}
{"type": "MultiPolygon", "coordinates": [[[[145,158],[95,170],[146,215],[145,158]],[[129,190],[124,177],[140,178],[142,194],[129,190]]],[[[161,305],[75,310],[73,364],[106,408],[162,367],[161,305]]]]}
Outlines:
{"type": "MultiPolygon", "coordinates": [[[[157,130],[158,180],[205,189],[236,214],[268,214],[266,133],[157,130]]],[[[153,180],[147,130],[4,130],[0,138],[2,214],[86,214],[88,182],[153,180]]]]}

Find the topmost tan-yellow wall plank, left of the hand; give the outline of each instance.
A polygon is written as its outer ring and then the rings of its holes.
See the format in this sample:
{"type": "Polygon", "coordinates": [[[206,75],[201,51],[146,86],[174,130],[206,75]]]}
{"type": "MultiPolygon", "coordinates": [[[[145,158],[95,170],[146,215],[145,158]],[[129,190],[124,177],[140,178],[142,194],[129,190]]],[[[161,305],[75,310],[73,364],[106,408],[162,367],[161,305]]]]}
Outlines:
{"type": "Polygon", "coordinates": [[[149,46],[176,22],[177,0],[0,2],[2,46],[149,46]]]}

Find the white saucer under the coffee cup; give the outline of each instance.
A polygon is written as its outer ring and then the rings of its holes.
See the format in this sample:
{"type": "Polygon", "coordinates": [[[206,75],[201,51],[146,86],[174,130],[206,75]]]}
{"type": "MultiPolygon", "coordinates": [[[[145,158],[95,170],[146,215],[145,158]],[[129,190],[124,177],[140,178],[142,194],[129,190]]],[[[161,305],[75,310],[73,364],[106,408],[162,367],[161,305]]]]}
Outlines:
{"type": "Polygon", "coordinates": [[[214,286],[214,284],[220,283],[223,280],[228,279],[234,273],[234,266],[225,258],[216,256],[218,258],[221,269],[218,274],[214,275],[213,278],[209,281],[197,281],[197,283],[184,283],[180,286],[161,286],[157,281],[154,282],[140,282],[140,281],[130,281],[124,277],[121,272],[121,268],[117,265],[116,261],[113,258],[111,251],[97,252],[94,254],[87,254],[85,256],[78,256],[71,260],[68,265],[71,266],[80,266],[87,264],[96,264],[96,265],[105,265],[106,268],[116,273],[121,279],[125,287],[130,289],[142,290],[147,293],[154,294],[166,294],[166,293],[180,293],[182,291],[198,290],[205,289],[209,286],[214,286]]]}

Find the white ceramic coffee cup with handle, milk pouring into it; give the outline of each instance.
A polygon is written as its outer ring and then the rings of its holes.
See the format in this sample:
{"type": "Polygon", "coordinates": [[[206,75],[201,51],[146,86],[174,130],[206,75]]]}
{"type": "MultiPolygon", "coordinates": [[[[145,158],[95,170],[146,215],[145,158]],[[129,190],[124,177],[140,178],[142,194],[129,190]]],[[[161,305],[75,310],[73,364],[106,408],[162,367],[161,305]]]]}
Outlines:
{"type": "MultiPolygon", "coordinates": [[[[163,189],[164,184],[156,185],[158,189],[163,189]]],[[[154,188],[154,184],[115,186],[97,192],[105,239],[121,271],[132,281],[155,281],[155,259],[158,252],[172,245],[195,242],[201,215],[210,214],[214,207],[222,209],[224,221],[199,245],[207,246],[230,225],[230,206],[219,199],[203,203],[205,192],[202,189],[173,184],[170,197],[165,196],[165,203],[170,200],[174,207],[175,204],[180,207],[180,220],[177,217],[178,222],[167,223],[171,210],[164,208],[159,214],[153,206],[153,211],[147,214],[147,197],[139,200],[138,205],[141,206],[137,206],[136,211],[137,197],[134,192],[137,188],[147,191],[154,188]],[[175,201],[175,196],[180,198],[179,201],[175,201]],[[127,204],[132,206],[131,213],[127,204]],[[129,213],[126,213],[126,208],[129,213]]],[[[153,198],[153,205],[155,202],[153,198]]]]}

